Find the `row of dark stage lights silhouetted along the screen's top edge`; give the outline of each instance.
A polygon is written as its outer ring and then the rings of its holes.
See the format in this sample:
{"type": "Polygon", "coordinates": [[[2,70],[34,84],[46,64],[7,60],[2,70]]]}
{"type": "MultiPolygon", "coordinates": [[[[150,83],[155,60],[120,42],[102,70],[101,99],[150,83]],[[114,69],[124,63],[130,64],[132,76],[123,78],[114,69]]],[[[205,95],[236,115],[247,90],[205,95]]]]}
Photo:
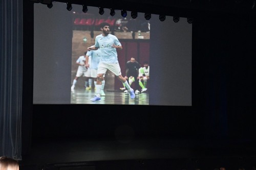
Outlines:
{"type": "MultiPolygon", "coordinates": [[[[51,4],[48,4],[47,7],[48,7],[48,8],[52,8],[52,7],[53,7],[53,4],[52,4],[52,3],[51,3],[51,4]]],[[[71,10],[72,10],[72,4],[71,4],[71,3],[67,3],[67,10],[68,10],[68,11],[71,11],[71,10]]],[[[86,13],[87,11],[88,11],[87,6],[86,6],[86,5],[82,5],[82,12],[86,13]]],[[[99,14],[100,14],[100,15],[103,15],[103,14],[104,14],[104,9],[103,9],[102,7],[99,7],[99,14]]],[[[114,10],[114,9],[110,9],[110,15],[111,15],[111,16],[114,16],[115,14],[116,14],[115,10],[114,10]]],[[[126,16],[127,16],[127,11],[121,10],[121,16],[122,16],[122,17],[126,17],[126,16]]],[[[138,16],[138,12],[136,12],[136,11],[131,11],[131,17],[132,17],[133,19],[137,18],[137,16],[138,16]]],[[[144,14],[144,17],[145,17],[146,20],[150,20],[150,19],[151,19],[151,13],[146,12],[146,13],[144,14]]],[[[165,15],[160,14],[160,15],[159,15],[159,20],[160,20],[160,21],[164,21],[164,20],[165,20],[165,15]]],[[[173,21],[174,21],[174,22],[177,23],[177,22],[179,22],[179,20],[180,20],[180,17],[178,17],[178,16],[174,16],[174,17],[173,17],[173,21]]],[[[192,22],[193,22],[193,19],[192,19],[192,18],[187,18],[187,22],[188,22],[188,23],[192,23],[192,22]]]]}

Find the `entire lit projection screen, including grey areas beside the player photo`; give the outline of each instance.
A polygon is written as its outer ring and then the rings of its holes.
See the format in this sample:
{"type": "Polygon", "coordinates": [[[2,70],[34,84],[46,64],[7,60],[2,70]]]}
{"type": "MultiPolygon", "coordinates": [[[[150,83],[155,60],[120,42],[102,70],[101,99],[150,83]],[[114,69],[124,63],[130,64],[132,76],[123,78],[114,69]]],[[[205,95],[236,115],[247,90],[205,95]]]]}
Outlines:
{"type": "Polygon", "coordinates": [[[33,104],[192,105],[187,19],[114,12],[34,3],[33,104]]]}

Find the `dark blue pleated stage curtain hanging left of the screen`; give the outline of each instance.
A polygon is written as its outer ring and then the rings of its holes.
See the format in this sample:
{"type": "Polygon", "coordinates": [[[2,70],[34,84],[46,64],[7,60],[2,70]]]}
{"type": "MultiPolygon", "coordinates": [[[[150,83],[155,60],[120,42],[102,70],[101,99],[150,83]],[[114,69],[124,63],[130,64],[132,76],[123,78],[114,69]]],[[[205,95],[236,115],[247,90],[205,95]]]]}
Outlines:
{"type": "Polygon", "coordinates": [[[0,156],[22,159],[23,1],[0,1],[0,156]]]}

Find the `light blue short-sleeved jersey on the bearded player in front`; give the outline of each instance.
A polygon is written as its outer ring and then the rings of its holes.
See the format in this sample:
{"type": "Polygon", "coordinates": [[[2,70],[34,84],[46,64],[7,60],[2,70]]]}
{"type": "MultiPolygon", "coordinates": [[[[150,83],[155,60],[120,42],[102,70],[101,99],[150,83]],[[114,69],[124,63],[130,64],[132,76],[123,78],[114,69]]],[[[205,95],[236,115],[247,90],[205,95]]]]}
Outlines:
{"type": "Polygon", "coordinates": [[[112,34],[108,34],[107,36],[100,34],[96,36],[95,46],[100,48],[102,54],[100,62],[118,63],[116,48],[112,47],[113,44],[121,46],[117,37],[112,34]]]}

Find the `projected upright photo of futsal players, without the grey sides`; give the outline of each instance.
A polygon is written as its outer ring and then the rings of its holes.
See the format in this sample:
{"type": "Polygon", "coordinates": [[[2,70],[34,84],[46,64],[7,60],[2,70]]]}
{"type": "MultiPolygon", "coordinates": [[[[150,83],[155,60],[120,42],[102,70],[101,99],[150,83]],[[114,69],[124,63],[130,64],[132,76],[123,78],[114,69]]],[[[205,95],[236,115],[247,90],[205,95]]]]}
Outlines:
{"type": "Polygon", "coordinates": [[[73,12],[71,104],[148,105],[150,20],[97,10],[73,12]]]}

